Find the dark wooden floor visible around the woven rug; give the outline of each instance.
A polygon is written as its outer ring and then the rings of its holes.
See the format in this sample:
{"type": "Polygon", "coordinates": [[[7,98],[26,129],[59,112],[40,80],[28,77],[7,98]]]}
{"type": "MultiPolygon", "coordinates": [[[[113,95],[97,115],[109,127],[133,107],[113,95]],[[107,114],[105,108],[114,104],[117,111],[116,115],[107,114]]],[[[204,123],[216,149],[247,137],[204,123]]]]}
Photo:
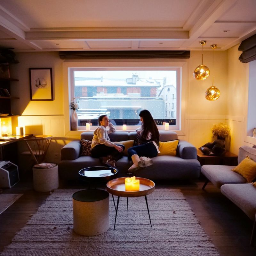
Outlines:
{"type": "MultiPolygon", "coordinates": [[[[204,180],[156,181],[157,188],[180,188],[212,243],[223,256],[256,255],[256,246],[249,245],[252,221],[236,205],[209,183],[202,190],[204,180]]],[[[82,184],[60,183],[60,188],[83,188],[82,184]]],[[[33,190],[32,178],[20,181],[3,193],[23,193],[14,204],[0,215],[0,252],[11,243],[15,233],[36,213],[49,193],[33,190]]],[[[256,245],[256,241],[255,241],[256,245]]]]}

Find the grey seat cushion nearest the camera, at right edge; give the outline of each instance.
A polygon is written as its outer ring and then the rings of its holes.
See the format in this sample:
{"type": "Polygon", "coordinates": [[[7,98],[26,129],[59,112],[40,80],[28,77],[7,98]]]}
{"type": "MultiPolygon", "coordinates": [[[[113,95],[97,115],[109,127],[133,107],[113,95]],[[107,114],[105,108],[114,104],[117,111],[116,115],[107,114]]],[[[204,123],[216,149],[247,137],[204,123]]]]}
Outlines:
{"type": "Polygon", "coordinates": [[[236,204],[251,220],[255,220],[256,187],[252,184],[226,184],[221,193],[236,204]]]}

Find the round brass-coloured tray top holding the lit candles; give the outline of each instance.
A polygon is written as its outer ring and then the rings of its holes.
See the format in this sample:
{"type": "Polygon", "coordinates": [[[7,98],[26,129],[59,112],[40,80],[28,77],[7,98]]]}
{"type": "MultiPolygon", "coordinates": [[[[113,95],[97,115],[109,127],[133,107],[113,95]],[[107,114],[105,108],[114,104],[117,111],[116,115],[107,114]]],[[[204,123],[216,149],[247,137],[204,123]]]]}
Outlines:
{"type": "Polygon", "coordinates": [[[136,180],[140,180],[140,190],[139,191],[125,191],[124,179],[127,177],[117,178],[110,180],[107,183],[107,191],[115,196],[123,197],[138,197],[146,196],[155,190],[155,183],[152,180],[145,178],[136,177],[136,180]]]}

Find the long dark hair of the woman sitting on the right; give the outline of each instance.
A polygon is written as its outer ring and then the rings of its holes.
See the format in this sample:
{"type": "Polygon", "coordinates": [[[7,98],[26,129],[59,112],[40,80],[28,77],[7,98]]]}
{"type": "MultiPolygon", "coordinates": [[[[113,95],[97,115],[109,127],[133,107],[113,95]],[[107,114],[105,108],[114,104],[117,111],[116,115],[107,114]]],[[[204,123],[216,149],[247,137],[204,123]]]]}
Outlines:
{"type": "Polygon", "coordinates": [[[150,112],[147,109],[143,109],[140,111],[139,116],[143,118],[143,132],[141,138],[146,139],[148,133],[151,132],[151,138],[159,144],[159,132],[150,112]]]}

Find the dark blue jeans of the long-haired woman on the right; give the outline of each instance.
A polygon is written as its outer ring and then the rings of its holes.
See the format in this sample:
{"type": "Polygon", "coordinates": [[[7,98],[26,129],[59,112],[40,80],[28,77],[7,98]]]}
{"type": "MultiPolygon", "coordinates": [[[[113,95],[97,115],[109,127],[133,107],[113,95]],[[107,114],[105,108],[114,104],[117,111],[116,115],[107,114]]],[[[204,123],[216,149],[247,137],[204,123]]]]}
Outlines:
{"type": "Polygon", "coordinates": [[[127,153],[129,160],[132,160],[132,155],[155,157],[157,156],[157,149],[153,142],[148,142],[146,144],[128,148],[127,153]]]}

